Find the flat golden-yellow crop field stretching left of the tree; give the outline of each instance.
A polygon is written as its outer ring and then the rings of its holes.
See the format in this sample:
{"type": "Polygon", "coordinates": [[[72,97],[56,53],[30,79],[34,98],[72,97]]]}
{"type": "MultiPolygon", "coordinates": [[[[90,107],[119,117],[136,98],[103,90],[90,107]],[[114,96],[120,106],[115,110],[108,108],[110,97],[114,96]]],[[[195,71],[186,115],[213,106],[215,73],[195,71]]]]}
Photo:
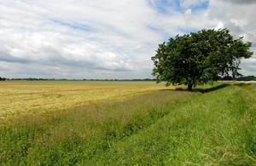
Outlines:
{"type": "MultiPolygon", "coordinates": [[[[67,109],[166,89],[154,82],[8,81],[0,83],[0,119],[67,109]]],[[[172,87],[169,89],[172,89],[172,87]]]]}

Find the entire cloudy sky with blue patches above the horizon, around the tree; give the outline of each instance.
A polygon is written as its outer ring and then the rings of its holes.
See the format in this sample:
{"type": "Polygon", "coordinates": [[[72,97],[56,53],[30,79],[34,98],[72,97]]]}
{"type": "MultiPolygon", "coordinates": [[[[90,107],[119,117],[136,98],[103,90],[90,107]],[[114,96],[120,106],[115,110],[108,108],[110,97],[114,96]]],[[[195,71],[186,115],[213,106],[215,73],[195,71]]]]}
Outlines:
{"type": "MultiPolygon", "coordinates": [[[[152,77],[158,44],[229,28],[253,42],[255,0],[0,0],[0,77],[152,77]]],[[[256,54],[241,61],[256,75],[256,54]]]]}

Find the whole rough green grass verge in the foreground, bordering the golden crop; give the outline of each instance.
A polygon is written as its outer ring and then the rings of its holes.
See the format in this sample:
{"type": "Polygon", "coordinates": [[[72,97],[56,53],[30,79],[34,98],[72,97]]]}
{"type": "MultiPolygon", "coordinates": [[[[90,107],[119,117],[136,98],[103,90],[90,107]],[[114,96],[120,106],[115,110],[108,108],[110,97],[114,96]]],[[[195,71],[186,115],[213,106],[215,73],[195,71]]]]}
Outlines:
{"type": "Polygon", "coordinates": [[[3,165],[255,165],[256,84],[20,116],[0,138],[3,165]]]}

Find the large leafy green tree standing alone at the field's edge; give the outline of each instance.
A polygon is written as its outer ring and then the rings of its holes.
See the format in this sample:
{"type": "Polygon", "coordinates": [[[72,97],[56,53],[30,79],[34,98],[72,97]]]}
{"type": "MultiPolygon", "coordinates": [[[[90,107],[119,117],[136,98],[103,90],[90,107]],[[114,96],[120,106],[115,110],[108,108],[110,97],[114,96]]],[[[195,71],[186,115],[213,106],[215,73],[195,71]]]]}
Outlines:
{"type": "Polygon", "coordinates": [[[197,84],[217,81],[220,76],[241,74],[242,58],[250,58],[252,43],[234,38],[228,29],[201,30],[171,37],[161,43],[152,60],[153,75],[166,85],[185,84],[192,90],[197,84]]]}

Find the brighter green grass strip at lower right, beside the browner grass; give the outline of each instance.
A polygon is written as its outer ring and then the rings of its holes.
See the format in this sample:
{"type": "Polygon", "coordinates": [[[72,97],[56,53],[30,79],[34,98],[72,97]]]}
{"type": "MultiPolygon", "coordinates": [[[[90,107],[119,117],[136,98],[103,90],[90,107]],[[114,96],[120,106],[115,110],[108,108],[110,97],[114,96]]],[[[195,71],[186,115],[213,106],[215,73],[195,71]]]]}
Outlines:
{"type": "Polygon", "coordinates": [[[256,164],[252,88],[233,86],[197,96],[148,129],[114,142],[93,163],[256,164]]]}

